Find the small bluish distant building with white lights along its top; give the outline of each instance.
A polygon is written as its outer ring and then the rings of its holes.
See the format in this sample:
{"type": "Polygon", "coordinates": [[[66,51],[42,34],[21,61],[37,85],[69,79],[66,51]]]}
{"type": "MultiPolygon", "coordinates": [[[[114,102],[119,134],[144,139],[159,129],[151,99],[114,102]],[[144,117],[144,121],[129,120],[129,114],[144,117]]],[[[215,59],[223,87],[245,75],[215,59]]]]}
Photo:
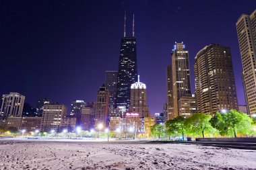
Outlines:
{"type": "Polygon", "coordinates": [[[86,106],[86,102],[84,100],[73,100],[71,103],[71,113],[70,116],[75,116],[76,118],[76,125],[81,125],[81,110],[86,106]]]}

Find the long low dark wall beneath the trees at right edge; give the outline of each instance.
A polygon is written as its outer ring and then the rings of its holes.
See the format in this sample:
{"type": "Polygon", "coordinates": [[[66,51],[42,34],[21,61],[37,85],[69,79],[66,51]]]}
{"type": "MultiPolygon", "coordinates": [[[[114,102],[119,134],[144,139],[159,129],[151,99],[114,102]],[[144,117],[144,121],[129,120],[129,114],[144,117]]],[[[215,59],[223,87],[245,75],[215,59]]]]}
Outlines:
{"type": "Polygon", "coordinates": [[[256,143],[256,138],[195,138],[198,142],[248,142],[256,143]]]}

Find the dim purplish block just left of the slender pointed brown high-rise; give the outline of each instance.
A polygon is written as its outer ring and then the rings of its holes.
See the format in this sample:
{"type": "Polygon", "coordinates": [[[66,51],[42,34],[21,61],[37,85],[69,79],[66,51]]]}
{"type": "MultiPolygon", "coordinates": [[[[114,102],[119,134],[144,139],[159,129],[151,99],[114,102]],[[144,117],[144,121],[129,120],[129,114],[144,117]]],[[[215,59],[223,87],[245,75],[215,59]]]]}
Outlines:
{"type": "Polygon", "coordinates": [[[91,108],[82,108],[81,112],[81,127],[83,130],[90,130],[93,128],[92,125],[92,109],[91,108]]]}

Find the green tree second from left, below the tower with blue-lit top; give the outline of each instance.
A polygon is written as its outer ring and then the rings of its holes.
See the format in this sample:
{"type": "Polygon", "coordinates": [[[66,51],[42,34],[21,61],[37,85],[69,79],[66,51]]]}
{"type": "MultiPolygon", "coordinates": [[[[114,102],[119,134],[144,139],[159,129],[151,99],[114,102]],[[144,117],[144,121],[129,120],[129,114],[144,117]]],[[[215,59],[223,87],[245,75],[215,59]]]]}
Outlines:
{"type": "Polygon", "coordinates": [[[185,118],[183,116],[178,116],[174,118],[173,120],[167,120],[165,123],[166,126],[166,132],[171,135],[171,134],[182,134],[183,140],[184,139],[184,134],[186,132],[185,129],[185,118]]]}

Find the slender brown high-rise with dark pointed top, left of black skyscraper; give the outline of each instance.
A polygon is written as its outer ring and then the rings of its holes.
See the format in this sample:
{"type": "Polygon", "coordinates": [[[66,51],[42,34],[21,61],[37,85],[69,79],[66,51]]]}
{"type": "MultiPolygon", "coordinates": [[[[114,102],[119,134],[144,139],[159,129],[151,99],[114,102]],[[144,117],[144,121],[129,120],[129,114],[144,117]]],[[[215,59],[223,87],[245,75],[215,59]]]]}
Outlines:
{"type": "Polygon", "coordinates": [[[102,85],[98,90],[96,101],[96,113],[95,113],[95,127],[98,128],[99,124],[102,127],[108,126],[108,104],[109,93],[105,85],[102,85]]]}

